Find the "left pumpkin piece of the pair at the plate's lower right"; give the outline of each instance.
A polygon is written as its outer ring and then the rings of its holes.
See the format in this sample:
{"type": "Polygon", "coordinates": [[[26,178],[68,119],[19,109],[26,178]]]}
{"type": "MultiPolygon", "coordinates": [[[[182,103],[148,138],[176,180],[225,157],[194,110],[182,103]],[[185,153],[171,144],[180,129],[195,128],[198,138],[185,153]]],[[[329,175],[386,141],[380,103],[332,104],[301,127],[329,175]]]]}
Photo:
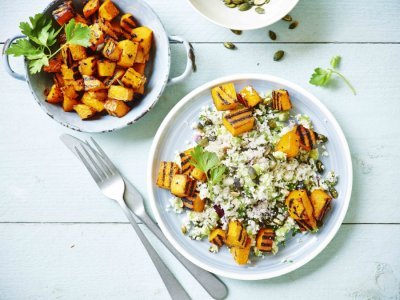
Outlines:
{"type": "Polygon", "coordinates": [[[295,220],[302,230],[317,229],[314,209],[306,190],[294,190],[286,197],[285,204],[290,217],[295,220]]]}

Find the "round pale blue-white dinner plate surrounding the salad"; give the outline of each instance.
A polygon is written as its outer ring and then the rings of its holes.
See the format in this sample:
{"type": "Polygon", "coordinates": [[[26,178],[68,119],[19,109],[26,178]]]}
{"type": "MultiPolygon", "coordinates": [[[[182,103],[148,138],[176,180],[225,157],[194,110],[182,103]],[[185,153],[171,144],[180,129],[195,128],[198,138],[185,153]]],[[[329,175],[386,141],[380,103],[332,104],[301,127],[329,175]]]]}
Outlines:
{"type": "Polygon", "coordinates": [[[346,138],[329,110],[313,95],[303,88],[270,75],[239,74],[211,81],[195,89],[166,116],[154,138],[147,172],[149,200],[163,233],[176,249],[187,259],[210,272],[224,277],[257,280],[266,279],[291,272],[317,256],[332,240],[345,217],[351,196],[353,171],[350,151],[346,138]],[[318,133],[329,138],[326,143],[328,157],[322,159],[327,170],[335,170],[339,176],[336,189],[339,197],[332,201],[332,208],[324,218],[324,225],[316,234],[299,234],[288,237],[286,246],[280,247],[278,254],[254,258],[252,263],[240,266],[235,263],[226,247],[218,254],[208,251],[210,243],[193,241],[181,232],[181,222],[185,213],[175,214],[167,211],[171,194],[155,185],[160,161],[171,161],[177,151],[188,148],[187,141],[193,140],[193,122],[198,121],[200,109],[213,105],[210,89],[225,82],[233,82],[237,90],[252,85],[257,91],[286,89],[294,106],[294,113],[310,116],[318,133]]]}

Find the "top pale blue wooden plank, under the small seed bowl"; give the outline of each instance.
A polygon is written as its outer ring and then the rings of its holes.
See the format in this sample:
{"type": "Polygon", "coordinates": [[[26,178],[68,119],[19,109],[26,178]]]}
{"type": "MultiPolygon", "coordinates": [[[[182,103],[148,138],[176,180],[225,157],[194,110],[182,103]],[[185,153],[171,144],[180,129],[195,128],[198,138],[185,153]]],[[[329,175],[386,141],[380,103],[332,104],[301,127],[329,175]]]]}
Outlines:
{"type": "MultiPolygon", "coordinates": [[[[18,24],[44,9],[49,1],[30,0],[2,3],[0,41],[17,34],[18,24]]],[[[164,23],[169,34],[182,35],[193,42],[267,42],[266,29],[236,36],[207,21],[192,9],[188,1],[147,1],[164,23]]],[[[267,8],[267,6],[266,6],[267,8]]],[[[268,8],[267,8],[268,9],[268,8]]],[[[300,22],[295,30],[280,21],[270,26],[282,42],[400,42],[400,2],[378,0],[299,1],[291,15],[300,22]]]]}

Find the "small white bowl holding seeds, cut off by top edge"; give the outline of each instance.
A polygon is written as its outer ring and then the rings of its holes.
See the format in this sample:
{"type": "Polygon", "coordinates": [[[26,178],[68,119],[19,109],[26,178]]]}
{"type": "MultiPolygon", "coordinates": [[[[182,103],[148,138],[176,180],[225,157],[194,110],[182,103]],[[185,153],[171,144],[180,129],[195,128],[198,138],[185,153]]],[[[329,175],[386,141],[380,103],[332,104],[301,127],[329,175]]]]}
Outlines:
{"type": "Polygon", "coordinates": [[[298,0],[271,0],[261,6],[265,14],[259,14],[252,7],[247,11],[225,6],[222,0],[188,0],[189,3],[209,21],[229,29],[252,30],[271,25],[287,15],[298,0]]]}

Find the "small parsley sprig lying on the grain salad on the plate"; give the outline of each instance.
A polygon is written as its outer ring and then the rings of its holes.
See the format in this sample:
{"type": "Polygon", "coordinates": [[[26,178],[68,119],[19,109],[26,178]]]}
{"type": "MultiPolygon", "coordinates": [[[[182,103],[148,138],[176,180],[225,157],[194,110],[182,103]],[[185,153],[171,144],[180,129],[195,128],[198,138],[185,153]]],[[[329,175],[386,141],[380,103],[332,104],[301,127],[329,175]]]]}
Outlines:
{"type": "Polygon", "coordinates": [[[190,163],[206,173],[209,183],[215,185],[222,180],[226,167],[221,164],[215,153],[205,151],[201,146],[196,146],[190,155],[192,156],[190,163]]]}

